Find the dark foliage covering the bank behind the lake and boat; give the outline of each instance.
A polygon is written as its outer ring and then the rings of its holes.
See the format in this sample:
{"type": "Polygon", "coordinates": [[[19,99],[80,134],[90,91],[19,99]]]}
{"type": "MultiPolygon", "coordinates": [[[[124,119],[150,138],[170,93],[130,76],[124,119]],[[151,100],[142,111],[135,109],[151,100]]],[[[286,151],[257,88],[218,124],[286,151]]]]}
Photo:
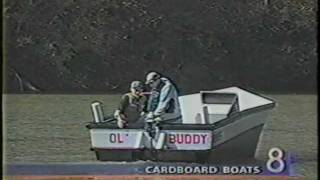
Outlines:
{"type": "Polygon", "coordinates": [[[315,92],[316,10],[316,0],[7,0],[5,91],[124,92],[156,70],[182,93],[315,92]]]}

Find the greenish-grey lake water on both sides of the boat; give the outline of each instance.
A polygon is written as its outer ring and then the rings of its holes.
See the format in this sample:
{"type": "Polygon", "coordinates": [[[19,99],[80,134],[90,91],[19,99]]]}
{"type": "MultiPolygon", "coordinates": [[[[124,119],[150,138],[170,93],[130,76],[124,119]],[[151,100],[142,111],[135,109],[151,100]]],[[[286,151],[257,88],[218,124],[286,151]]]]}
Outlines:
{"type": "MultiPolygon", "coordinates": [[[[267,95],[277,106],[258,144],[257,158],[272,147],[296,155],[298,173],[317,177],[317,96],[267,95]]],[[[99,163],[90,151],[90,104],[101,101],[105,114],[120,95],[4,95],[5,162],[99,163]]]]}

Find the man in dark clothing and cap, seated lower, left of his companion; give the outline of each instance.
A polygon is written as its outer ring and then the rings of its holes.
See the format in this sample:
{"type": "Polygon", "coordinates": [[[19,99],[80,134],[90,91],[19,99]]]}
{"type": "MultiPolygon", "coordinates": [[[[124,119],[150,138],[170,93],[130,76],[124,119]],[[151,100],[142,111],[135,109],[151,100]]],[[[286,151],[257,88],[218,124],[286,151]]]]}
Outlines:
{"type": "Polygon", "coordinates": [[[119,128],[125,128],[128,124],[136,123],[141,118],[147,101],[142,92],[142,82],[133,81],[130,85],[130,92],[122,96],[119,108],[114,112],[119,128]]]}

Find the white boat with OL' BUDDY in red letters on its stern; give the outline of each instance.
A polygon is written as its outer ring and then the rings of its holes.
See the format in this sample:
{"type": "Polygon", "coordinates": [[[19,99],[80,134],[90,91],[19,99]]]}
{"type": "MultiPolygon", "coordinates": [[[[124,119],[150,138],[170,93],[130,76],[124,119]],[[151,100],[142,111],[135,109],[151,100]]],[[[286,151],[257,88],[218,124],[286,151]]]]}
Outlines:
{"type": "Polygon", "coordinates": [[[227,162],[255,156],[275,102],[228,87],[179,97],[182,123],[129,125],[104,121],[102,103],[92,103],[87,124],[91,150],[100,161],[227,162]]]}

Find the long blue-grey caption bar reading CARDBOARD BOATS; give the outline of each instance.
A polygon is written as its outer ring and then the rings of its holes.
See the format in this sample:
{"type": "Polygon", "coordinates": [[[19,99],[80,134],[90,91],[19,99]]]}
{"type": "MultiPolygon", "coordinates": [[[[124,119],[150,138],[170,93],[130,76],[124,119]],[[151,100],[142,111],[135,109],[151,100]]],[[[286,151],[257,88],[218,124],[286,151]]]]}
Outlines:
{"type": "Polygon", "coordinates": [[[261,164],[208,165],[182,163],[107,163],[107,164],[9,164],[8,176],[72,176],[72,175],[199,175],[199,176],[297,176],[292,165],[281,169],[261,164]]]}

